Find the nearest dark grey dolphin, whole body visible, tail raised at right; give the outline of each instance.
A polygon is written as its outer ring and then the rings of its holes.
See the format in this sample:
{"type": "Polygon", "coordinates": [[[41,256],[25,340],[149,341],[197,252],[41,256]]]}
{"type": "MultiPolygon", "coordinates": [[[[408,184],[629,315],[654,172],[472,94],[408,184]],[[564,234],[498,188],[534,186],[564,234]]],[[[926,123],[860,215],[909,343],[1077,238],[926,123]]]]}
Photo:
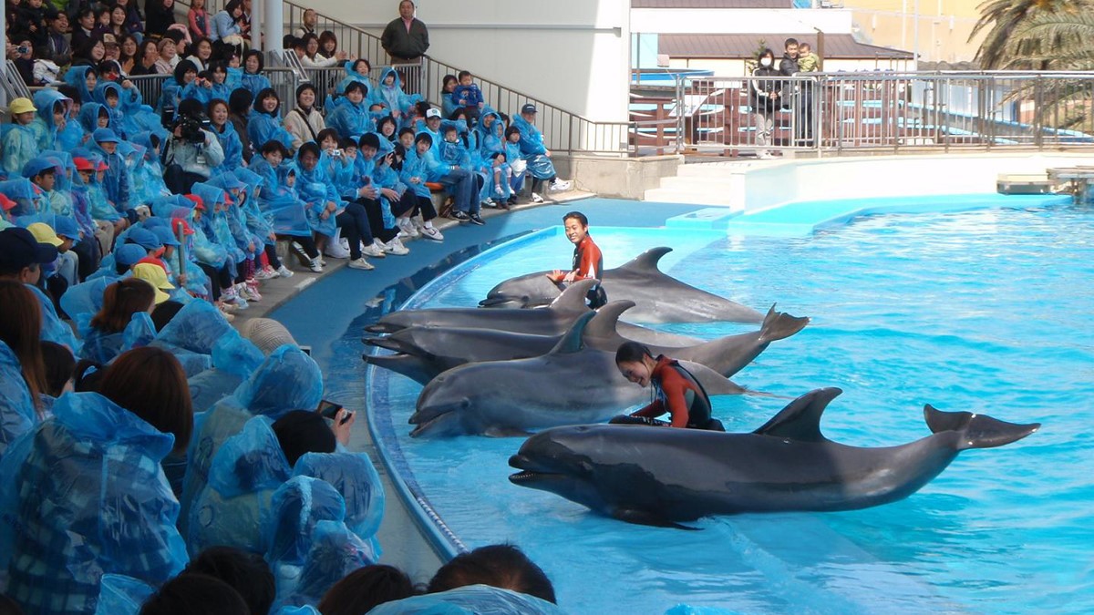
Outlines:
{"type": "Polygon", "coordinates": [[[899,446],[848,446],[821,433],[821,415],[840,393],[806,393],[752,433],[549,429],[510,457],[521,472],[509,479],[608,517],[661,526],[712,514],[854,510],[915,494],[961,451],[1002,446],[1040,427],[927,405],[931,436],[899,446]]]}

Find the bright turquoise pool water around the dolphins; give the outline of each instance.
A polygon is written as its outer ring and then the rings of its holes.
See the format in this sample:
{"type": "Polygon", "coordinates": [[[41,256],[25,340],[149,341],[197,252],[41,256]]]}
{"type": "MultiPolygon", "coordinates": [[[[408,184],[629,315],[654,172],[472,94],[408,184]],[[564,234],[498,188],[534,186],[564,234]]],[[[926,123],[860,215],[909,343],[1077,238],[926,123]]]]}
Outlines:
{"type": "MultiPolygon", "coordinates": [[[[802,239],[603,229],[616,266],[654,245],[663,269],[758,309],[808,315],[734,378],[796,396],[845,390],[822,428],[892,445],[929,433],[921,408],[1043,429],[967,451],[912,497],[842,513],[706,519],[701,532],[627,525],[507,480],[521,439],[411,440],[420,387],[369,370],[414,479],[467,546],[510,541],[548,572],[573,613],[1094,612],[1094,211],[880,216],[802,239]]],[[[498,280],[551,268],[569,244],[546,233],[453,269],[416,306],[474,305],[498,280]]],[[[714,337],[746,327],[667,326],[714,337]]],[[[715,398],[729,430],[785,399],[715,398]]]]}

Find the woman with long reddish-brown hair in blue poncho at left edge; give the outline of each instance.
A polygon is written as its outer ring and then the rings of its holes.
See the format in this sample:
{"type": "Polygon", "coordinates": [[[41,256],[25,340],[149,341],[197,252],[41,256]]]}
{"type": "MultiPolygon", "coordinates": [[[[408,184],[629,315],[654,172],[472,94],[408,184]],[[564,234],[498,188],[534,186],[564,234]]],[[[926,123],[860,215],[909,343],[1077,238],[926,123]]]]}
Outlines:
{"type": "Polygon", "coordinates": [[[26,286],[0,280],[0,457],[42,418],[48,390],[42,356],[42,308],[26,286]]]}

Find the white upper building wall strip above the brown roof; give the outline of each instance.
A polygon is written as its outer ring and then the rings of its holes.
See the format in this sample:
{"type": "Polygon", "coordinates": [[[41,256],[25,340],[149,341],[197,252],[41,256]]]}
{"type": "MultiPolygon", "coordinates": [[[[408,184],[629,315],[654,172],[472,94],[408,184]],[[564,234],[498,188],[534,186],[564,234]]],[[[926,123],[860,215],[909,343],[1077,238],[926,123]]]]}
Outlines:
{"type": "Polygon", "coordinates": [[[630,30],[656,34],[778,32],[851,34],[851,11],[840,9],[635,9],[630,30]]]}

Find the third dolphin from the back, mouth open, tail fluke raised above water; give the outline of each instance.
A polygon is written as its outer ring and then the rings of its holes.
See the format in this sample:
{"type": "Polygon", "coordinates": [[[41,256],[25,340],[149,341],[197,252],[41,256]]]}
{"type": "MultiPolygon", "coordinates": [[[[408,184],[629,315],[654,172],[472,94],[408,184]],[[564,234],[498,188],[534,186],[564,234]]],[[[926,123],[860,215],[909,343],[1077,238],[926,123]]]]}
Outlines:
{"type": "MultiPolygon", "coordinates": [[[[615,352],[619,345],[629,341],[619,335],[617,325],[620,314],[633,305],[632,301],[613,301],[601,308],[585,326],[583,343],[597,350],[615,352]]],[[[664,344],[647,346],[654,356],[668,355],[674,359],[701,363],[730,378],[759,356],[771,341],[790,337],[806,324],[808,318],[776,312],[772,305],[757,332],[687,346],[674,345],[675,336],[666,336],[657,339],[664,344]]],[[[560,338],[484,328],[411,326],[384,337],[365,338],[365,344],[394,350],[398,355],[366,355],[364,360],[426,384],[441,372],[464,363],[546,355],[560,338]]]]}

